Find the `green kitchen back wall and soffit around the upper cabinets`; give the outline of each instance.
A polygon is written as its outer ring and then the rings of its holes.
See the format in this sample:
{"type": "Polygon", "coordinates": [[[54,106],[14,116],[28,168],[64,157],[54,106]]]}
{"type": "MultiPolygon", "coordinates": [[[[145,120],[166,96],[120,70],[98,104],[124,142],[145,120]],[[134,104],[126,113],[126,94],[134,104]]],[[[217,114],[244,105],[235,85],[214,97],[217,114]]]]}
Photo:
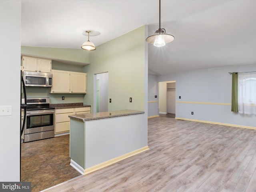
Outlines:
{"type": "MultiPolygon", "coordinates": [[[[21,46],[21,55],[52,59],[52,69],[84,72],[84,65],[90,61],[90,54],[82,49],[46,48],[21,46]]],[[[85,94],[50,93],[48,87],[26,87],[28,98],[50,98],[51,104],[82,103],[85,94]],[[65,97],[62,100],[62,96],[65,97]]],[[[86,103],[87,104],[87,103],[86,103]]],[[[90,104],[88,104],[90,105],[90,104]]]]}

